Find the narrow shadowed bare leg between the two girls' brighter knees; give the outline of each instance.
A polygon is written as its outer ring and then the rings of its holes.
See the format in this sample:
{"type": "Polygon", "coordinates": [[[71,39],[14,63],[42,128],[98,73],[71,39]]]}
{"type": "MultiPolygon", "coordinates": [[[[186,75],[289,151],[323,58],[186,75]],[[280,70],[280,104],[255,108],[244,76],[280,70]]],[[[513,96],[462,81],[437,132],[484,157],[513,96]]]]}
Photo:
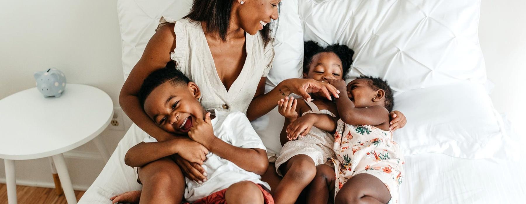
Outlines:
{"type": "MultiPolygon", "coordinates": [[[[307,203],[329,203],[333,195],[336,173],[329,165],[316,166],[316,176],[307,186],[307,203]]],[[[331,199],[332,200],[332,199],[331,199]]]]}

